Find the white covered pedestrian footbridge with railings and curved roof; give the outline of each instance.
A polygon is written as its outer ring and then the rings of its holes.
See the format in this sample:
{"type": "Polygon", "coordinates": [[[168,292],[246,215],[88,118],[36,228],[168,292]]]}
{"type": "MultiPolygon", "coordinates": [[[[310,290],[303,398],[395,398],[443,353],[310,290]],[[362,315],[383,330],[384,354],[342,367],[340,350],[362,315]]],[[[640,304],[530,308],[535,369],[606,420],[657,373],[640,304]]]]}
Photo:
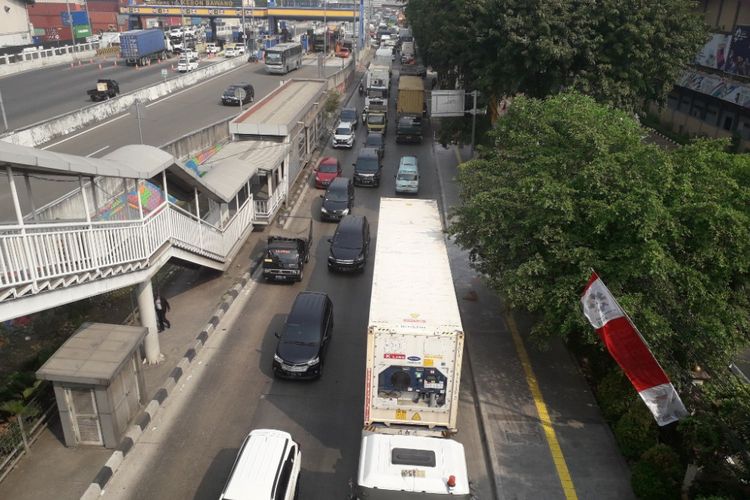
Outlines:
{"type": "MultiPolygon", "coordinates": [[[[224,156],[257,149],[264,165],[286,153],[285,144],[239,142],[224,156]]],[[[199,177],[143,145],[83,158],[0,142],[0,164],[16,219],[0,226],[2,320],[143,283],[171,258],[222,270],[286,195],[283,179],[271,177],[262,186],[271,196],[256,200],[258,168],[247,162],[219,158],[199,177]],[[78,177],[79,189],[36,209],[31,179],[41,176],[78,177]]]]}

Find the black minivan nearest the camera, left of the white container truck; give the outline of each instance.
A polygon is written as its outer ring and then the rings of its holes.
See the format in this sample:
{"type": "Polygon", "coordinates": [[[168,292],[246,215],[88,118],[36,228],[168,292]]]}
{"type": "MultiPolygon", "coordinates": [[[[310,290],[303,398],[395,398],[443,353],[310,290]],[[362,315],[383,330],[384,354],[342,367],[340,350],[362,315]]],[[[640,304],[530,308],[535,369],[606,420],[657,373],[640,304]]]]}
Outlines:
{"type": "Polygon", "coordinates": [[[318,378],[333,333],[333,303],[322,292],[300,292],[286,318],[273,355],[273,374],[318,378]]]}

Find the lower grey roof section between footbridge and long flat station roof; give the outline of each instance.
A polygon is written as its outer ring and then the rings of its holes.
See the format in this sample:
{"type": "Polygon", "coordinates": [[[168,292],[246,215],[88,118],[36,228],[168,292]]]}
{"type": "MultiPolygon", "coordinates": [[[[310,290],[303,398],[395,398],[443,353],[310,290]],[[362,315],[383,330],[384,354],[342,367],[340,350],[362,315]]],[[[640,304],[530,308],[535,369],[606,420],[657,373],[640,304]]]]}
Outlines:
{"type": "Polygon", "coordinates": [[[287,144],[273,141],[230,142],[205,163],[210,170],[203,182],[224,200],[231,200],[258,170],[276,168],[287,148],[287,144]]]}

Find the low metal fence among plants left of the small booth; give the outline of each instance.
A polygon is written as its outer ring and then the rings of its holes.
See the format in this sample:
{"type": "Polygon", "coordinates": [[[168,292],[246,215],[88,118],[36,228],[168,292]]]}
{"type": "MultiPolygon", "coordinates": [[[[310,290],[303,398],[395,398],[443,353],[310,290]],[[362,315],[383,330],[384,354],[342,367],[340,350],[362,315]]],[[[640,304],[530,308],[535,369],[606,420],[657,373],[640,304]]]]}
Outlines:
{"type": "Polygon", "coordinates": [[[44,382],[21,413],[0,422],[0,481],[29,452],[31,444],[47,428],[55,408],[52,384],[44,382]]]}

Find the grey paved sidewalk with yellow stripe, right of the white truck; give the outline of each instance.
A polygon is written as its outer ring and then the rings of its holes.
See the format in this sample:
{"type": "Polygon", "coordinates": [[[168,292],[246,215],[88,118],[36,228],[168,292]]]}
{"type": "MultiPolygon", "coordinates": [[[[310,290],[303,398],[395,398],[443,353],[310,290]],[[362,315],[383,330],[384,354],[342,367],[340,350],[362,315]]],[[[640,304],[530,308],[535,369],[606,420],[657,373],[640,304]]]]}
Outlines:
{"type": "MultiPolygon", "coordinates": [[[[469,158],[469,148],[459,151],[435,144],[434,149],[440,203],[444,210],[448,207],[449,217],[450,207],[459,200],[457,166],[469,158]]],[[[531,328],[529,318],[506,315],[502,301],[470,268],[468,253],[453,244],[448,252],[496,497],[566,498],[540,422],[540,401],[529,389],[515,336],[525,347],[524,361],[534,371],[569,470],[568,493],[580,499],[634,498],[625,460],[563,343],[552,342],[541,351],[521,340],[531,328]]]]}

